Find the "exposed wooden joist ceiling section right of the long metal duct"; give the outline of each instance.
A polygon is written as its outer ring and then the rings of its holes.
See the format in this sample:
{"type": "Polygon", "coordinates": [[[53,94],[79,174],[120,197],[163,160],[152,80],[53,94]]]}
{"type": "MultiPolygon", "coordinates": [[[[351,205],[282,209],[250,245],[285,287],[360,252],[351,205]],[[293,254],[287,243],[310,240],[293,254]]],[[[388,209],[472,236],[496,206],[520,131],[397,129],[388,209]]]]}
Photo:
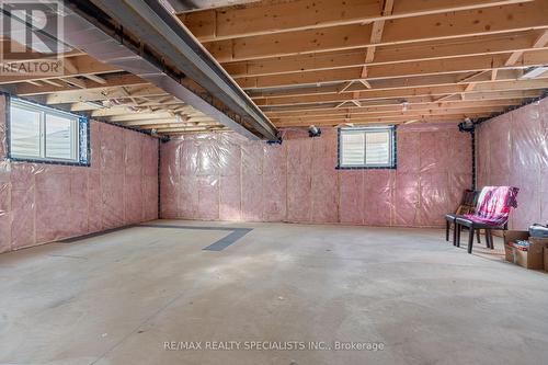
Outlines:
{"type": "Polygon", "coordinates": [[[481,117],[538,98],[548,72],[523,76],[548,64],[546,13],[538,0],[263,0],[179,16],[277,126],[308,126],[481,117]]]}

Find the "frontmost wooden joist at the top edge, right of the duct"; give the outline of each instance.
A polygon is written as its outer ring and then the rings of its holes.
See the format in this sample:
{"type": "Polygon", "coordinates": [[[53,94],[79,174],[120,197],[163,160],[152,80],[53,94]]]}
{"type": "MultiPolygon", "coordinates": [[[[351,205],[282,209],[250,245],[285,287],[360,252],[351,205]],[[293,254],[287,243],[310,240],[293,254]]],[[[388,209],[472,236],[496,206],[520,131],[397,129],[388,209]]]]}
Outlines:
{"type": "MultiPolygon", "coordinates": [[[[386,20],[506,5],[524,1],[398,0],[386,20]]],[[[260,2],[248,7],[181,14],[180,19],[201,41],[220,41],[326,26],[373,23],[383,20],[376,0],[297,0],[260,2]],[[302,16],[306,14],[306,16],[302,16]]]]}

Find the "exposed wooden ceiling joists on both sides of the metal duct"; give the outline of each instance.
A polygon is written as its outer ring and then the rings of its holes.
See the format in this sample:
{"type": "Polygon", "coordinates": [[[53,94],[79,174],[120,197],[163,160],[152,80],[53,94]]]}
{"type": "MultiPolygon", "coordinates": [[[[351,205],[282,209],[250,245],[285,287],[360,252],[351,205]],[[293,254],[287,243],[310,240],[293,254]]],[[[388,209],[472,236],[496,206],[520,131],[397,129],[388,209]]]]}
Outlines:
{"type": "MultiPolygon", "coordinates": [[[[178,16],[276,126],[308,127],[449,123],[538,98],[548,72],[523,75],[548,65],[546,14],[546,0],[259,0],[178,16]]],[[[227,130],[134,75],[59,56],[64,75],[3,75],[0,89],[158,135],[227,130]]]]}

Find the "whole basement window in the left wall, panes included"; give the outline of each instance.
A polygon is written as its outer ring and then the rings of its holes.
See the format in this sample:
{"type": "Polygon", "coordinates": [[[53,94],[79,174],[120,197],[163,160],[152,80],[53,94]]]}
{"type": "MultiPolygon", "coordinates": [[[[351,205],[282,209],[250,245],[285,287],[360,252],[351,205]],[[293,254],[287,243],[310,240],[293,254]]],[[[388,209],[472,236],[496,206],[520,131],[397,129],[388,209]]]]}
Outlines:
{"type": "Polygon", "coordinates": [[[89,166],[87,118],[16,98],[9,103],[11,160],[89,166]]]}

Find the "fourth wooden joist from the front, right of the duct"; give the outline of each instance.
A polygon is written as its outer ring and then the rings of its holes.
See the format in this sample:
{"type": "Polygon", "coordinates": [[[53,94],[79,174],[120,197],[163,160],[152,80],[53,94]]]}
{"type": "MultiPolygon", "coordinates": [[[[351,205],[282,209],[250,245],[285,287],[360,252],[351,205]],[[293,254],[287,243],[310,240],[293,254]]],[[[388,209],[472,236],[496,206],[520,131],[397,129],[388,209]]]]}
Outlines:
{"type": "MultiPolygon", "coordinates": [[[[401,78],[412,76],[439,75],[452,72],[471,72],[507,68],[504,66],[509,55],[459,57],[444,60],[427,60],[421,62],[401,62],[397,65],[369,66],[368,81],[375,79],[401,78]]],[[[530,50],[525,53],[518,61],[520,67],[539,66],[546,64],[548,49],[530,50]]],[[[517,65],[516,65],[517,66],[517,65]]],[[[242,89],[279,88],[297,84],[317,84],[326,82],[345,82],[361,79],[359,67],[341,70],[326,70],[317,72],[296,72],[273,75],[253,78],[238,78],[236,81],[242,89]]]]}

